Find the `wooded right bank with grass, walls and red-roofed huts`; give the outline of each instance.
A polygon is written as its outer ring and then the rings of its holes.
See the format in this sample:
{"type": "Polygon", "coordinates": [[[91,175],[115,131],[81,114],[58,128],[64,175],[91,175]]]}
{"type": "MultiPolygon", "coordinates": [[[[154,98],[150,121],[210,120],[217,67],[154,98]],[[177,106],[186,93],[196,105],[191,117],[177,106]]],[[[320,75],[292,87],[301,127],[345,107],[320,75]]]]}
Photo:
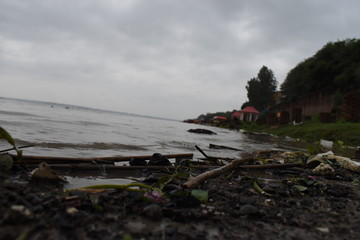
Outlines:
{"type": "Polygon", "coordinates": [[[329,42],[291,69],[279,91],[274,72],[263,66],[247,82],[248,101],[241,106],[242,110],[253,107],[256,117],[254,112],[236,115],[233,110],[201,114],[185,122],[290,137],[314,145],[326,140],[336,147],[358,147],[359,53],[360,39],[329,42]]]}

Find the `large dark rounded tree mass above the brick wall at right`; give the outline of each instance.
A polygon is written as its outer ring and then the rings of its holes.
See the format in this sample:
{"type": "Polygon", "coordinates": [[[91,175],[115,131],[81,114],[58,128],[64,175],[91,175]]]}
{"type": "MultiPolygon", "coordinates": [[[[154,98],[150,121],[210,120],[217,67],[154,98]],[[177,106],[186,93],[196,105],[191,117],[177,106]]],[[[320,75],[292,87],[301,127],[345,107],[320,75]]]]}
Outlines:
{"type": "Polygon", "coordinates": [[[288,100],[360,88],[360,39],[329,42],[293,68],[281,85],[288,100]]]}

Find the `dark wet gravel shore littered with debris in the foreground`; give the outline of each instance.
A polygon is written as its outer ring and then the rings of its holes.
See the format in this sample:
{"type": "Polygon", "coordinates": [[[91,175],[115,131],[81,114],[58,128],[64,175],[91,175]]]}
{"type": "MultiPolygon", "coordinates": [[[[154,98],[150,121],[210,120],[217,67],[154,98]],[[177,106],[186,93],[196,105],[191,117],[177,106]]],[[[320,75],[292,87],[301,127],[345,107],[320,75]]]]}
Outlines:
{"type": "Polygon", "coordinates": [[[198,185],[203,202],[179,188],[181,179],[150,200],[126,190],[64,192],[18,174],[1,179],[0,239],[360,239],[360,175],[338,167],[329,176],[235,170],[198,185]]]}

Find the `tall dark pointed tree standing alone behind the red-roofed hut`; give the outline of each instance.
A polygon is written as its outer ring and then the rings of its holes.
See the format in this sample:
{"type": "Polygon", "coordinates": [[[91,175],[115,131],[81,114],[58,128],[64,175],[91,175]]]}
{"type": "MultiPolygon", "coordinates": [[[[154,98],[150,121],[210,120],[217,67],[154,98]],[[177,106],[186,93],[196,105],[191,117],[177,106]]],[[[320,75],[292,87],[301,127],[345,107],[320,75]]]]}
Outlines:
{"type": "Polygon", "coordinates": [[[243,106],[254,106],[260,112],[265,110],[272,104],[276,88],[277,81],[274,73],[263,66],[257,78],[252,78],[247,82],[246,90],[249,101],[243,106]]]}

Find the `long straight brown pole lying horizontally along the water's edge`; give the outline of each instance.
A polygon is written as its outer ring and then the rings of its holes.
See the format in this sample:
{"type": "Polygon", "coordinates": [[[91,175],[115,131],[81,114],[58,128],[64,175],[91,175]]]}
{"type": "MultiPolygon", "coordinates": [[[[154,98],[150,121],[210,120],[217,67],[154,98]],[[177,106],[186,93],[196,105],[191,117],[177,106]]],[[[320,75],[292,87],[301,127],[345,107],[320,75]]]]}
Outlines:
{"type": "MultiPolygon", "coordinates": [[[[16,158],[16,155],[10,154],[12,158],[16,158]]],[[[164,155],[167,158],[193,158],[192,153],[183,154],[167,154],[164,155]]],[[[116,157],[91,157],[91,158],[71,158],[71,157],[50,157],[50,156],[22,156],[22,161],[25,164],[39,164],[46,162],[49,164],[69,164],[69,163],[91,163],[93,161],[100,163],[113,164],[114,162],[127,162],[132,158],[149,160],[152,159],[152,155],[146,156],[116,156],[116,157]]]]}

